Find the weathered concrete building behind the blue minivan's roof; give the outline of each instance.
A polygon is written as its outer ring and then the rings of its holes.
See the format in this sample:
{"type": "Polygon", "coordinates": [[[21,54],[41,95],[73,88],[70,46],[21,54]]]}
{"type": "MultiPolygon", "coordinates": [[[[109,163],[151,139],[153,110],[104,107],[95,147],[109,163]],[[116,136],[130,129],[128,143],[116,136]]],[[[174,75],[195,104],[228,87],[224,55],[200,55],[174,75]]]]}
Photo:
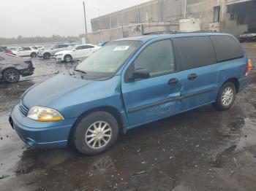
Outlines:
{"type": "Polygon", "coordinates": [[[196,23],[201,31],[224,31],[238,36],[256,28],[256,0],[148,1],[92,19],[92,32],[80,37],[83,41],[97,44],[152,32],[179,31],[180,28],[189,31],[196,23]]]}

